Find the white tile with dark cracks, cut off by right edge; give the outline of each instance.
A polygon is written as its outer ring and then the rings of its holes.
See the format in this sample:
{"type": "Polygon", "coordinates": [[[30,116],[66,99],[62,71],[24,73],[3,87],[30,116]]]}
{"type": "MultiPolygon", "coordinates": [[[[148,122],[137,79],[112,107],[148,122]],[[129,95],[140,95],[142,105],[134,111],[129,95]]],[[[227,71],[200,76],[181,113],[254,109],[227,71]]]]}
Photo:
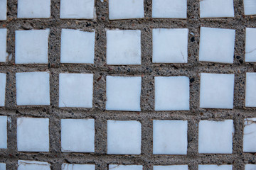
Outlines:
{"type": "Polygon", "coordinates": [[[246,118],[243,130],[243,152],[256,152],[256,118],[246,118]]]}

